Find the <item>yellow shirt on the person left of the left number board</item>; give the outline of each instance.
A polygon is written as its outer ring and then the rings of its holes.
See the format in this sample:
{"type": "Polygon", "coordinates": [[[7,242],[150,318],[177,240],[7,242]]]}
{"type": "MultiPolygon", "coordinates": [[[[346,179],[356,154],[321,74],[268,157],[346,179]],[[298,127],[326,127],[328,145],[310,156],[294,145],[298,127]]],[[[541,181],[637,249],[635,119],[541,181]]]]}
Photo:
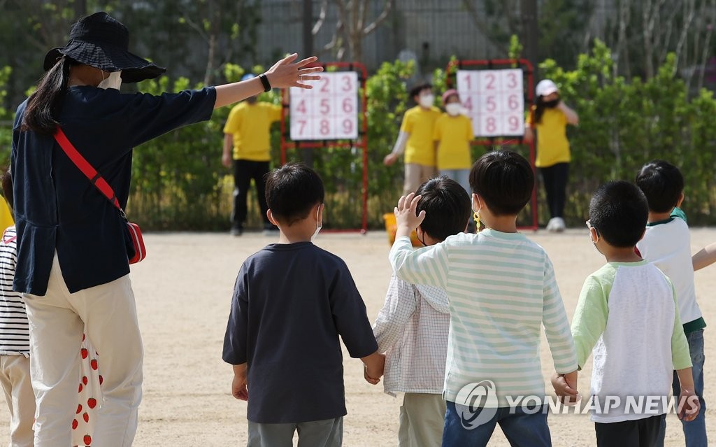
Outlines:
{"type": "Polygon", "coordinates": [[[224,133],[233,135],[233,159],[271,160],[271,123],[281,120],[281,106],[240,102],[231,109],[224,133]]]}

